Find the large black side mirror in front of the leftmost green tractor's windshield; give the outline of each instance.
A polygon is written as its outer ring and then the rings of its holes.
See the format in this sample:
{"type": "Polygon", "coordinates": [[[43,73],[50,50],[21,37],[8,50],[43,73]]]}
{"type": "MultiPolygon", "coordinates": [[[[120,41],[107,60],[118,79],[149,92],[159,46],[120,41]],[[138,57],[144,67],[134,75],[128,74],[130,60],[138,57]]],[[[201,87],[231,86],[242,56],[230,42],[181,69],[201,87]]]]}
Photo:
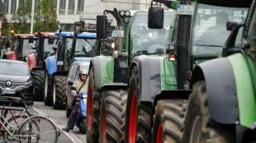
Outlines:
{"type": "Polygon", "coordinates": [[[163,7],[149,7],[148,27],[152,29],[162,29],[164,27],[163,7]]]}

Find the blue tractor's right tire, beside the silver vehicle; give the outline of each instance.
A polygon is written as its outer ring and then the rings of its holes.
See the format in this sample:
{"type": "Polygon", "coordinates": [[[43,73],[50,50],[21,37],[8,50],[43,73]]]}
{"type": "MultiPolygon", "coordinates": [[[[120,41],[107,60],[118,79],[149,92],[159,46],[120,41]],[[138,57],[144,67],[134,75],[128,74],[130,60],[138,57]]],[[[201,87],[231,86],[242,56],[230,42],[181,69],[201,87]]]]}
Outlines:
{"type": "Polygon", "coordinates": [[[52,104],[54,109],[66,108],[67,76],[55,76],[52,90],[52,104]]]}

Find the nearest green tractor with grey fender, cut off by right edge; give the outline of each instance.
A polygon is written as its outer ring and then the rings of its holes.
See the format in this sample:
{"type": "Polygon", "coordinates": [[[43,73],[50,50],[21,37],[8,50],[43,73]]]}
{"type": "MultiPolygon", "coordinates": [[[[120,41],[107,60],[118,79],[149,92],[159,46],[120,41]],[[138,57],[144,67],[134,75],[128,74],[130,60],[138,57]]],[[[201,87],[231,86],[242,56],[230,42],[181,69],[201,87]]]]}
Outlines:
{"type": "Polygon", "coordinates": [[[225,58],[203,62],[194,69],[184,142],[256,141],[255,0],[246,20],[245,24],[227,23],[232,33],[225,43],[225,58]],[[241,44],[235,44],[242,27],[241,44]]]}

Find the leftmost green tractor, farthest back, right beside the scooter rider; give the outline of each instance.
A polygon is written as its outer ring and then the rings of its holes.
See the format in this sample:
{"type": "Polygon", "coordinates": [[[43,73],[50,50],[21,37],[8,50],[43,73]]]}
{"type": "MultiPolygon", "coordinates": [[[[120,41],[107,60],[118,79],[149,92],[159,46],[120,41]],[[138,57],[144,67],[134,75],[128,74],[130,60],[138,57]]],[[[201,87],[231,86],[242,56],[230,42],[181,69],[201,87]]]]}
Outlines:
{"type": "MultiPolygon", "coordinates": [[[[123,142],[126,118],[126,90],[130,59],[143,53],[159,54],[165,45],[164,30],[148,29],[148,12],[105,11],[116,17],[117,27],[107,25],[106,16],[97,16],[97,36],[107,45],[108,53],[92,58],[88,84],[88,142],[123,142]],[[154,35],[159,33],[159,35],[154,35]],[[107,36],[108,34],[108,36],[107,36]],[[153,37],[147,39],[146,36],[153,37]],[[159,36],[159,39],[156,37],[159,36]],[[145,39],[142,39],[145,38],[145,39]],[[141,40],[140,40],[141,39],[141,40]],[[150,40],[158,45],[147,48],[150,40]],[[160,48],[160,49],[159,49],[160,48]],[[98,117],[99,114],[99,117],[98,117]]],[[[170,30],[174,13],[166,13],[166,27],[170,30]]],[[[168,32],[166,32],[168,33],[168,32]]],[[[104,46],[102,46],[104,48],[104,46]]],[[[101,51],[106,51],[102,49],[101,51]]],[[[165,48],[164,48],[165,50],[165,48]]]]}

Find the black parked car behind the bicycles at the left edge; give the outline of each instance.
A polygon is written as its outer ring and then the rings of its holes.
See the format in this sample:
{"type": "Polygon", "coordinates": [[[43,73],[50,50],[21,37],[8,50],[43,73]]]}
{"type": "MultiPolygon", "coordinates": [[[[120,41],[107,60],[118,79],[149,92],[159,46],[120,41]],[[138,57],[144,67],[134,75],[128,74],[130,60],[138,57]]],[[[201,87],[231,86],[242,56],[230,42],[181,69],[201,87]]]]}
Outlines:
{"type": "Polygon", "coordinates": [[[33,82],[27,62],[0,60],[0,98],[21,97],[32,101],[33,82]]]}

